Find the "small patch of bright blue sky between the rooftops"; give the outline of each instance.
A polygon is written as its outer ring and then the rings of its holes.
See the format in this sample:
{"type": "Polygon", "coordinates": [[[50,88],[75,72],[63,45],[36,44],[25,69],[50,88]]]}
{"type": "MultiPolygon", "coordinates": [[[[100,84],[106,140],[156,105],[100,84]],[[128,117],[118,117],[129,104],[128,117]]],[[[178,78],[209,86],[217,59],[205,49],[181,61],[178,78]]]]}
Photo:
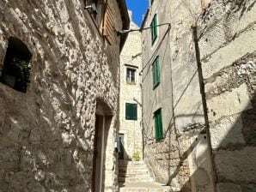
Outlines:
{"type": "Polygon", "coordinates": [[[149,6],[149,0],[126,0],[127,8],[132,10],[132,19],[140,27],[143,21],[143,15],[149,6]]]}

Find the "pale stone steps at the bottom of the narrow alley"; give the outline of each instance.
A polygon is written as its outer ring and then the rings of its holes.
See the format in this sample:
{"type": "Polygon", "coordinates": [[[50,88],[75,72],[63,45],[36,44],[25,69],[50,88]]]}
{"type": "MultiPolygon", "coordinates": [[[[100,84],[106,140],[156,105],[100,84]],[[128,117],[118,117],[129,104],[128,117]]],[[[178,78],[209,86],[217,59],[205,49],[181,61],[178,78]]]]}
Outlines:
{"type": "Polygon", "coordinates": [[[168,186],[154,182],[143,161],[119,160],[119,192],[170,192],[168,186]]]}

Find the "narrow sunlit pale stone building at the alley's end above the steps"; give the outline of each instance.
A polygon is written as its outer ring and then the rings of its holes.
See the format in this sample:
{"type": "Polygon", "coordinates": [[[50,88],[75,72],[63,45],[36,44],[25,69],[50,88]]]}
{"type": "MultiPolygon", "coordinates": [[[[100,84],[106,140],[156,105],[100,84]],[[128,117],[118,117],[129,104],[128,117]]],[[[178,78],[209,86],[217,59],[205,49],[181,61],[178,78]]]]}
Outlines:
{"type": "MultiPolygon", "coordinates": [[[[131,19],[131,11],[130,11],[131,19]]],[[[131,29],[137,29],[131,21],[131,29]]],[[[142,160],[141,33],[129,33],[120,55],[119,159],[142,160]]]]}

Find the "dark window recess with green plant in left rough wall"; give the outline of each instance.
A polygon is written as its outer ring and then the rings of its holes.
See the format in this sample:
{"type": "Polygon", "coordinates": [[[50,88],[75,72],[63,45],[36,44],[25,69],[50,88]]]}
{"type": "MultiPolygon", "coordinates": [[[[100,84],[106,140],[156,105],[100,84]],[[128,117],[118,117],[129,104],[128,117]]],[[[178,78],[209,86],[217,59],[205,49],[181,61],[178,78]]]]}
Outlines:
{"type": "Polygon", "coordinates": [[[30,82],[29,62],[31,58],[32,54],[27,45],[20,39],[9,38],[0,81],[16,91],[26,93],[30,82]]]}

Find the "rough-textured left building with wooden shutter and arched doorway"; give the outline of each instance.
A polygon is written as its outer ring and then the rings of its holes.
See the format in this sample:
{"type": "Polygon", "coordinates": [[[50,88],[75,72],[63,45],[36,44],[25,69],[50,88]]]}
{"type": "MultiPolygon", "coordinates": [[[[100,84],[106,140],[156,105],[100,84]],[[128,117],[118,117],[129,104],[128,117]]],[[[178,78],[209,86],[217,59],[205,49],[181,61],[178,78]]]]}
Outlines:
{"type": "Polygon", "coordinates": [[[0,1],[0,191],[114,191],[124,0],[0,1]]]}

